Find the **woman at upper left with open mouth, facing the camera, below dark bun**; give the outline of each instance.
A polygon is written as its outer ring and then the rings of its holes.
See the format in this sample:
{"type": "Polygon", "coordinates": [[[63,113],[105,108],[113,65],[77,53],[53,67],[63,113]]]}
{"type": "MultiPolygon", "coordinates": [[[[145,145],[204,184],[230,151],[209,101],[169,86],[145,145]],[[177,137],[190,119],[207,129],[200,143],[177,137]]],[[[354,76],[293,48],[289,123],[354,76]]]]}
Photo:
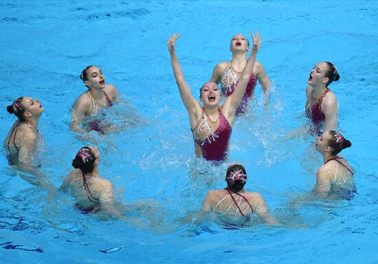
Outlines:
{"type": "Polygon", "coordinates": [[[76,99],[71,113],[71,130],[79,133],[87,133],[91,130],[101,132],[101,120],[90,121],[86,128],[80,128],[80,124],[85,117],[98,114],[100,110],[109,108],[113,101],[118,100],[118,90],[111,84],[105,84],[105,78],[102,71],[96,66],[88,66],[80,74],[80,79],[87,86],[88,91],[82,93],[76,99]]]}

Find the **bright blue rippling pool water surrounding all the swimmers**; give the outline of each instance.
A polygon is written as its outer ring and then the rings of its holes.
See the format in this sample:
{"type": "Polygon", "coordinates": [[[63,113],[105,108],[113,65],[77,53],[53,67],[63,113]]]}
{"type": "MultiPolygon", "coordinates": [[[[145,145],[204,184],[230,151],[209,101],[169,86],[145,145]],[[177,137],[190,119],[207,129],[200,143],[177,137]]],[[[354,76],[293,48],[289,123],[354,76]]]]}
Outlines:
{"type": "MultiPolygon", "coordinates": [[[[21,95],[40,99],[48,182],[60,186],[85,145],[69,132],[70,109],[85,86],[80,71],[96,64],[147,119],[126,106],[109,109],[122,131],[100,139],[100,175],[122,203],[154,200],[128,221],[81,215],[72,200],[23,180],[0,156],[0,263],[377,263],[377,58],[375,1],[1,1],[0,74],[3,138],[14,122],[5,107],[21,95]],[[230,60],[236,34],[258,29],[258,53],[274,82],[264,108],[234,123],[230,158],[249,173],[246,189],[262,193],[281,227],[230,230],[190,224],[210,189],[224,187],[227,164],[193,157],[188,115],[166,48],[179,32],[177,54],[194,96],[217,62],[230,60]],[[301,202],[321,164],[313,138],[282,138],[306,121],[309,71],[329,60],[340,103],[340,130],[353,146],[351,201],[301,202]]],[[[110,115],[109,115],[110,116],[110,115]]]]}

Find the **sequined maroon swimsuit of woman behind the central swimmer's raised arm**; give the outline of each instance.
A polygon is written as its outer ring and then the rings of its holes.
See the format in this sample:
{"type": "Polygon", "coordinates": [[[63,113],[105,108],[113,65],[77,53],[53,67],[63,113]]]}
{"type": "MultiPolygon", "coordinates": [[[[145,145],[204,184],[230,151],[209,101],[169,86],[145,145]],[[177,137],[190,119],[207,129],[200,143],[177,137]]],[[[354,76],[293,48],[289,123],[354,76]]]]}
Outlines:
{"type": "MultiPolygon", "coordinates": [[[[226,97],[229,97],[234,92],[239,79],[238,75],[236,75],[236,73],[234,73],[231,68],[231,62],[228,62],[227,69],[225,69],[221,76],[221,88],[226,97]]],[[[247,112],[248,101],[254,96],[254,88],[256,87],[256,82],[256,74],[252,72],[241,104],[238,106],[238,109],[236,109],[236,116],[243,115],[245,114],[245,112],[247,112]]]]}

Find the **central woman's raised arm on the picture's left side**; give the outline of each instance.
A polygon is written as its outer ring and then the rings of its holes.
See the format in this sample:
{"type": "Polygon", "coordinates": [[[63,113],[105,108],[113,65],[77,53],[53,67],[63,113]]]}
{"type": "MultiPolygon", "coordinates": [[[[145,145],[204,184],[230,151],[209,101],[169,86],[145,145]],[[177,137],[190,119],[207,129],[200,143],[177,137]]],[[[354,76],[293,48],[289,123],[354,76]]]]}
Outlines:
{"type": "Polygon", "coordinates": [[[199,102],[196,99],[194,99],[192,93],[190,92],[190,88],[188,84],[186,84],[184,73],[179,63],[179,59],[177,58],[177,54],[175,51],[175,43],[179,36],[180,35],[177,33],[175,33],[173,36],[170,36],[170,38],[167,41],[168,51],[170,53],[170,62],[172,63],[173,73],[175,73],[175,79],[177,82],[177,86],[179,87],[181,99],[184,102],[186,110],[188,110],[190,124],[194,124],[192,126],[195,126],[197,125],[199,116],[202,115],[202,107],[201,104],[199,104],[199,102]]]}

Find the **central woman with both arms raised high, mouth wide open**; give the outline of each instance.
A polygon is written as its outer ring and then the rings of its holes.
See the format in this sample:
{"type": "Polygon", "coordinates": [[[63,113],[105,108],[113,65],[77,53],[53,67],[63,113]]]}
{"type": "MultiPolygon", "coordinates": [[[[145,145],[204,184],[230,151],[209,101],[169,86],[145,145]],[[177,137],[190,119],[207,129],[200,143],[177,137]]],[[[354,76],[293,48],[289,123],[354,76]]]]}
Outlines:
{"type": "Polygon", "coordinates": [[[253,38],[252,52],[241,73],[234,93],[227,97],[221,107],[219,107],[221,93],[218,85],[214,82],[206,82],[200,88],[199,99],[203,101],[203,107],[199,101],[194,99],[188,84],[186,84],[184,73],[181,70],[175,51],[175,43],[180,35],[176,33],[168,39],[168,51],[173,72],[175,73],[181,99],[189,114],[196,154],[197,156],[203,156],[206,160],[221,161],[227,158],[236,109],[243,99],[249,77],[254,68],[256,54],[262,43],[258,32],[256,33],[256,38],[254,34],[251,33],[251,35],[253,38]]]}

